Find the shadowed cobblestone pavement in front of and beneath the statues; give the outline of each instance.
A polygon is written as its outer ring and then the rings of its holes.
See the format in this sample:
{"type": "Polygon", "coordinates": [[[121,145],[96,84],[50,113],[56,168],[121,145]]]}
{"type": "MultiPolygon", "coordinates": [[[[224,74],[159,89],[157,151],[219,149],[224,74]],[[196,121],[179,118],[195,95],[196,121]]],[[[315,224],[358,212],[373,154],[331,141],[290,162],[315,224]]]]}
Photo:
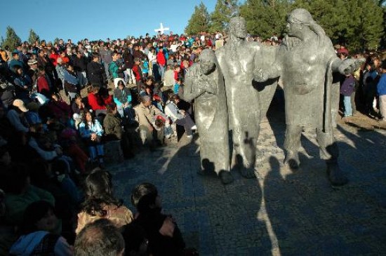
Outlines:
{"type": "Polygon", "coordinates": [[[117,196],[131,208],[140,182],[159,188],[187,246],[200,255],[386,255],[386,130],[358,131],[345,124],[335,137],[340,165],[350,183],[340,189],[326,180],[312,131],[302,135],[302,168],[283,165],[282,113],[263,121],[257,178],[222,185],[197,175],[199,137],[185,137],[109,170],[117,196]]]}

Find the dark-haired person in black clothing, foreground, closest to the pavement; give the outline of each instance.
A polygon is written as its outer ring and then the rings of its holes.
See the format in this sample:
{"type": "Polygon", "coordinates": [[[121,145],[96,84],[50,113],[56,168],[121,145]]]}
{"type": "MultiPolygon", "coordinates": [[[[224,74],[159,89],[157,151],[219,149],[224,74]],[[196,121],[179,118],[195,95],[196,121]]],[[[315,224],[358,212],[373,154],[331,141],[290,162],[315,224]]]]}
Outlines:
{"type": "Polygon", "coordinates": [[[133,224],[145,230],[152,255],[183,255],[185,242],[170,215],[161,213],[161,197],[150,183],[139,184],[131,194],[131,203],[138,210],[133,224]]]}

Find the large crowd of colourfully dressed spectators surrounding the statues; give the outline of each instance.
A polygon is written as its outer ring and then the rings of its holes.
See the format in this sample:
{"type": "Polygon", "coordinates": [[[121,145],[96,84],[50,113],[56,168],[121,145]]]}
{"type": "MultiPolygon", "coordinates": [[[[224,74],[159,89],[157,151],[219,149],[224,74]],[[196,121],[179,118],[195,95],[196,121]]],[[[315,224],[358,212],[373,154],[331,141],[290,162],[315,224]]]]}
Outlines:
{"type": "MultiPolygon", "coordinates": [[[[105,147],[117,145],[128,159],[138,147],[164,146],[177,126],[192,138],[192,102],[179,97],[185,73],[201,50],[225,41],[203,32],[1,48],[0,254],[195,255],[161,213],[154,185],[133,189],[135,215],[114,197],[105,147]]],[[[365,57],[357,72],[336,78],[342,109],[349,117],[361,105],[386,121],[386,64],[365,57]]]]}

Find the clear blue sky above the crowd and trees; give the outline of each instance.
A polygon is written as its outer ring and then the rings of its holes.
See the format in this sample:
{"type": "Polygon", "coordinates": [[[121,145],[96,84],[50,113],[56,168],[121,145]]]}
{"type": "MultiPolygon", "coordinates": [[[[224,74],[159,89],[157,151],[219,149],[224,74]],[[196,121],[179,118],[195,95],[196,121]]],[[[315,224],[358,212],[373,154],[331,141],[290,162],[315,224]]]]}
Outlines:
{"type": "MultiPolygon", "coordinates": [[[[211,12],[216,0],[203,0],[211,12]]],[[[0,36],[6,27],[15,29],[22,41],[34,29],[40,39],[55,37],[80,39],[117,39],[140,36],[159,23],[174,33],[183,33],[200,0],[5,0],[0,2],[0,36]]]]}

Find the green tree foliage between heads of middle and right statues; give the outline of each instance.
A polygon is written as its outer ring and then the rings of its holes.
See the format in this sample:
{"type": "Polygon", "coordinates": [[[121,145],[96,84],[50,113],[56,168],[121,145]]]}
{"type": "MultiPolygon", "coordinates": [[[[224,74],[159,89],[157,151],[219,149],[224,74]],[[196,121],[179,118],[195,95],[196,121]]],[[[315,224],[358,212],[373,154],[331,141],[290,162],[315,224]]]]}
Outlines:
{"type": "Polygon", "coordinates": [[[284,32],[286,15],[290,9],[289,0],[246,0],[240,6],[240,15],[246,19],[246,28],[250,34],[267,39],[284,32]]]}

